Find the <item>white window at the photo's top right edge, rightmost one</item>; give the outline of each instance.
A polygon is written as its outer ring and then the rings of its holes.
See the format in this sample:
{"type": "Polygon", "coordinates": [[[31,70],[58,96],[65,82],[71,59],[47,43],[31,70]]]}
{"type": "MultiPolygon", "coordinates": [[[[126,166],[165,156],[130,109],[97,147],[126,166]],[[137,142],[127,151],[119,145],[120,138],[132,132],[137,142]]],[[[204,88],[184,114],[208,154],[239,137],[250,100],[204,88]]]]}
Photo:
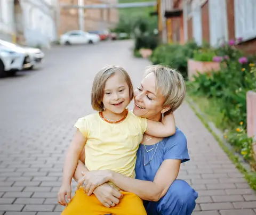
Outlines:
{"type": "Polygon", "coordinates": [[[256,38],[256,1],[235,0],[235,38],[243,41],[256,38]]]}

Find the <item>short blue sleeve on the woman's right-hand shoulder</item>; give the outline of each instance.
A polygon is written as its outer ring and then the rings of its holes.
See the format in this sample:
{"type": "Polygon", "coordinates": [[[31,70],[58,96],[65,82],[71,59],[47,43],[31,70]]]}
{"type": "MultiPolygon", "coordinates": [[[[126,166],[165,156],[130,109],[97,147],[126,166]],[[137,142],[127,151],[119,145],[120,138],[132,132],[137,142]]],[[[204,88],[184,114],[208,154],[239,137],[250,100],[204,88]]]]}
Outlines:
{"type": "Polygon", "coordinates": [[[181,131],[167,139],[164,153],[166,159],[178,159],[181,163],[189,161],[187,138],[181,131]]]}

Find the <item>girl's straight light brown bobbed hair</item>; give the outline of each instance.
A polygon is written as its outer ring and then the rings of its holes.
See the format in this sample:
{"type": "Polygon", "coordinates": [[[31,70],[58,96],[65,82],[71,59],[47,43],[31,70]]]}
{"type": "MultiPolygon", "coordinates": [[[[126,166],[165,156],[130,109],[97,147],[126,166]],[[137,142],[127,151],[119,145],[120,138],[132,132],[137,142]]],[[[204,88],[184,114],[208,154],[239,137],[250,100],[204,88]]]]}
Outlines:
{"type": "Polygon", "coordinates": [[[113,76],[116,72],[121,72],[124,76],[126,83],[129,87],[130,93],[130,101],[133,99],[133,86],[132,81],[128,73],[125,71],[124,68],[119,67],[117,65],[108,65],[107,67],[102,68],[95,76],[92,84],[92,93],[91,93],[91,104],[92,108],[95,111],[103,111],[103,95],[104,95],[104,88],[106,85],[106,81],[113,76]]]}

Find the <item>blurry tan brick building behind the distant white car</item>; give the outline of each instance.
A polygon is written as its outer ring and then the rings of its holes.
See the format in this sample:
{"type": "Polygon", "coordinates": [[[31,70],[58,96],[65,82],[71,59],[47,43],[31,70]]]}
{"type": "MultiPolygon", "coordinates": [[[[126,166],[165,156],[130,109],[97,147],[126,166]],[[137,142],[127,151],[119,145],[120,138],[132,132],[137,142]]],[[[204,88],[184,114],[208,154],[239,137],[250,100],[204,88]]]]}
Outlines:
{"type": "MultiPolygon", "coordinates": [[[[117,4],[118,0],[86,0],[85,5],[90,4],[117,4]]],[[[60,18],[59,18],[59,35],[79,29],[78,9],[72,5],[78,5],[78,0],[59,0],[60,18]],[[63,5],[70,5],[63,7],[63,5]]],[[[84,9],[84,30],[108,30],[116,25],[119,21],[118,10],[113,9],[84,9]]]]}

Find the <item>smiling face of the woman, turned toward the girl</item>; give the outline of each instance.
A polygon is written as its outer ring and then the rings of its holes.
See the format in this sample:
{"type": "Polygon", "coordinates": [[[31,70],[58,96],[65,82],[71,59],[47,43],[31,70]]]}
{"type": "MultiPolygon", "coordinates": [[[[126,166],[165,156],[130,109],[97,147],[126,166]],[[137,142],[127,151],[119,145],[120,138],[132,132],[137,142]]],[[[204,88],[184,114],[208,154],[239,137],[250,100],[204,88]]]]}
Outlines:
{"type": "Polygon", "coordinates": [[[164,102],[164,96],[156,92],[156,77],[151,72],[142,79],[134,92],[133,113],[138,117],[160,120],[164,102]]]}

